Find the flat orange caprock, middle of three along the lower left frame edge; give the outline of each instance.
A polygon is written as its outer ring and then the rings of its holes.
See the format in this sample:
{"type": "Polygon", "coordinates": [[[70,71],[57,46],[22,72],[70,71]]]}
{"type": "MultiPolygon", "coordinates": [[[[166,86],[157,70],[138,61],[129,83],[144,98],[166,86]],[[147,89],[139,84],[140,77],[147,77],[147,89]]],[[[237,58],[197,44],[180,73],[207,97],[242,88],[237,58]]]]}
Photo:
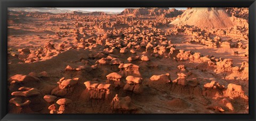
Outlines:
{"type": "Polygon", "coordinates": [[[40,92],[37,90],[37,88],[20,87],[19,90],[27,90],[27,91],[12,92],[11,95],[30,97],[30,96],[36,96],[36,95],[40,94],[40,92]]]}

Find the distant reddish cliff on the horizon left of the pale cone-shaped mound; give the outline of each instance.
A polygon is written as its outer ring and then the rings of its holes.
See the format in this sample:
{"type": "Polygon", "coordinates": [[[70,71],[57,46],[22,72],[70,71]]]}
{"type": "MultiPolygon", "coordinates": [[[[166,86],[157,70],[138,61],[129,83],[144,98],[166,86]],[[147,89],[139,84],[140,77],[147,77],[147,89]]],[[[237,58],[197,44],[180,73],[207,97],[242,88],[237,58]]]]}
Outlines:
{"type": "Polygon", "coordinates": [[[177,17],[177,15],[182,13],[183,11],[169,9],[169,7],[141,7],[139,9],[125,9],[121,12],[121,15],[164,15],[164,17],[177,17]]]}

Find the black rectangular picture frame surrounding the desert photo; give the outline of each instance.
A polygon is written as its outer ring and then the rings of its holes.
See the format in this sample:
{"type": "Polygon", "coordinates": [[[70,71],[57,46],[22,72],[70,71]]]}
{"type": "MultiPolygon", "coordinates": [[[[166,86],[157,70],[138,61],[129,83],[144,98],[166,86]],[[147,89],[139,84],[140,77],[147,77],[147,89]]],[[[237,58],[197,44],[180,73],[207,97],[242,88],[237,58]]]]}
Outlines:
{"type": "Polygon", "coordinates": [[[1,120],[255,120],[255,0],[0,0],[1,120]],[[249,114],[7,114],[7,7],[249,7],[249,114]]]}

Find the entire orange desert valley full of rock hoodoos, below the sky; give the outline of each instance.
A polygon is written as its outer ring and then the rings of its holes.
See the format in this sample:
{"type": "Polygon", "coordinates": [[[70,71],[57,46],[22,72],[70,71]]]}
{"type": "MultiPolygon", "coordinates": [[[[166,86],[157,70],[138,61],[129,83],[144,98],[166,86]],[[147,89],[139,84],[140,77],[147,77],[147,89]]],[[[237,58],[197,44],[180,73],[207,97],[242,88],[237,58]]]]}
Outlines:
{"type": "Polygon", "coordinates": [[[8,9],[8,113],[249,113],[248,8],[66,9],[8,9]]]}

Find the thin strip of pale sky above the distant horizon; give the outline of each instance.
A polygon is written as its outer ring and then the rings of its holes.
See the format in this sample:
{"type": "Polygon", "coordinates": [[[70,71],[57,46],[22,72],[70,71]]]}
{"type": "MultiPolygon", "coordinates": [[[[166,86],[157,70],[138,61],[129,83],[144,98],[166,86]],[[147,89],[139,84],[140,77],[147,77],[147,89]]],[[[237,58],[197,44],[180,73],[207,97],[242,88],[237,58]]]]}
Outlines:
{"type": "MultiPolygon", "coordinates": [[[[82,11],[102,11],[102,12],[122,12],[125,7],[56,7],[57,9],[60,10],[71,10],[71,11],[77,11],[77,10],[82,10],[82,11]]],[[[134,7],[131,7],[134,8],[134,7]]],[[[172,7],[170,7],[171,9],[172,7]]],[[[177,10],[186,10],[187,7],[174,7],[177,10]]]]}

